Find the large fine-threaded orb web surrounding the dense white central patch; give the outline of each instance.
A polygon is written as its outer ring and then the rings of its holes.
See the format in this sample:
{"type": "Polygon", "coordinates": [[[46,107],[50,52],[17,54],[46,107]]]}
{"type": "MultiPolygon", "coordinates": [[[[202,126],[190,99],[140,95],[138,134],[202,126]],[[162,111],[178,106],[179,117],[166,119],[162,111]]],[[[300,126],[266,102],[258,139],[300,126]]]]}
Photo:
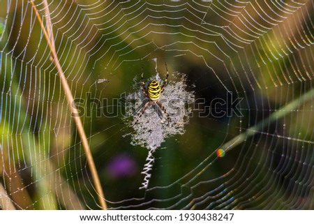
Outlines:
{"type": "MultiPolygon", "coordinates": [[[[8,200],[17,209],[99,209],[33,8],[1,6],[1,207],[8,200]]],[[[48,7],[110,209],[314,209],[313,1],[48,7]],[[124,121],[121,96],[140,91],[142,66],[145,81],[156,70],[164,79],[165,62],[172,84],[185,84],[197,102],[180,135],[154,150],[149,183],[139,189],[149,150],[130,144],[137,130],[124,121]],[[230,96],[242,100],[211,107],[230,96]]]]}

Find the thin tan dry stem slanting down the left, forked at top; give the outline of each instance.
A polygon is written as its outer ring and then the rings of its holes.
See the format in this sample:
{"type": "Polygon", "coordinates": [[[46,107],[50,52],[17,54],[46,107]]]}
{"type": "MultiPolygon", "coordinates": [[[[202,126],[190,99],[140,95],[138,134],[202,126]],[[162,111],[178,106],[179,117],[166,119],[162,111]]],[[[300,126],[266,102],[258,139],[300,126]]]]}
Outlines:
{"type": "Polygon", "coordinates": [[[84,148],[84,152],[85,152],[85,155],[87,157],[87,163],[89,165],[89,170],[91,170],[91,177],[93,178],[93,181],[95,184],[95,188],[96,188],[96,192],[98,194],[98,200],[100,202],[100,206],[103,209],[107,209],[107,204],[105,202],[105,195],[103,194],[103,188],[100,184],[100,179],[98,176],[98,172],[96,170],[94,158],[91,154],[91,149],[89,148],[89,142],[87,141],[87,136],[85,134],[82,121],[80,119],[80,116],[78,116],[79,111],[77,110],[76,105],[73,104],[74,98],[73,98],[73,95],[70,91],[70,87],[68,86],[68,82],[66,80],[66,75],[64,75],[64,73],[63,73],[63,70],[61,68],[61,64],[60,64],[58,56],[57,56],[57,52],[56,52],[55,47],[54,47],[54,36],[53,36],[53,32],[52,32],[52,24],[51,24],[51,20],[50,20],[50,12],[49,12],[49,8],[48,8],[47,0],[43,0],[44,6],[45,6],[45,20],[47,22],[47,30],[45,28],[45,25],[43,24],[43,20],[41,20],[41,17],[38,13],[36,6],[35,6],[35,3],[33,3],[33,0],[31,0],[30,2],[31,2],[31,5],[33,6],[33,10],[36,13],[37,20],[40,23],[41,28],[43,29],[43,33],[44,33],[45,38],[47,40],[47,43],[50,47],[53,62],[54,62],[54,65],[57,67],[57,70],[58,70],[58,73],[59,73],[59,76],[61,79],[63,91],[66,95],[66,100],[68,101],[68,106],[70,107],[72,114],[74,114],[73,119],[74,119],[75,124],[77,126],[77,131],[80,135],[82,145],[84,148]]]}

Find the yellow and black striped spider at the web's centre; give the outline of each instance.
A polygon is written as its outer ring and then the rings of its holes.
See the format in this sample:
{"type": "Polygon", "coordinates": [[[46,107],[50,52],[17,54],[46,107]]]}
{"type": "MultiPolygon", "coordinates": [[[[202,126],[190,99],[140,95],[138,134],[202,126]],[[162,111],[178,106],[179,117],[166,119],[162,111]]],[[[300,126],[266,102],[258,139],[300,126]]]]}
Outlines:
{"type": "Polygon", "coordinates": [[[160,84],[157,80],[151,80],[151,82],[149,82],[147,88],[145,87],[145,83],[144,83],[144,77],[143,77],[144,70],[142,67],[142,86],[141,86],[141,89],[143,91],[144,96],[149,98],[149,100],[147,101],[147,103],[145,103],[143,105],[140,112],[137,113],[137,119],[135,120],[135,123],[133,124],[133,126],[135,124],[137,124],[137,122],[140,120],[140,118],[144,114],[147,107],[154,105],[154,103],[156,103],[158,105],[158,107],[160,107],[160,109],[163,111],[163,113],[167,116],[167,119],[169,121],[171,121],[169,114],[167,113],[167,111],[165,110],[165,107],[163,106],[163,104],[159,100],[160,95],[163,94],[163,91],[165,90],[165,87],[167,85],[168,76],[169,76],[167,64],[165,64],[165,67],[166,67],[167,75],[165,77],[165,82],[163,82],[163,85],[160,87],[160,84]]]}

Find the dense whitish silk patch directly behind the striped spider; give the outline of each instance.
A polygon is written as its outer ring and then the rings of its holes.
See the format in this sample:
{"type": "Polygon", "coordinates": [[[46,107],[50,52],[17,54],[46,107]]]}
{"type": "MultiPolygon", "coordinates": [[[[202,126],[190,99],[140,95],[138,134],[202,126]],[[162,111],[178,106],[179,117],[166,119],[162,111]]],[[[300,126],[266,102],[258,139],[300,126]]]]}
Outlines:
{"type": "MultiPolygon", "coordinates": [[[[156,77],[152,77],[151,80],[154,78],[160,84],[163,84],[164,80],[160,80],[158,74],[156,77]]],[[[147,107],[140,120],[134,125],[137,113],[144,103],[149,100],[142,93],[140,85],[140,82],[137,82],[134,87],[137,91],[126,96],[126,102],[128,102],[126,103],[126,114],[128,116],[124,117],[124,121],[134,130],[126,135],[130,135],[131,144],[133,145],[140,145],[147,149],[157,149],[167,137],[184,133],[184,125],[188,123],[191,113],[189,104],[193,103],[195,96],[193,92],[186,90],[186,75],[174,73],[170,75],[167,86],[159,98],[170,115],[171,121],[167,120],[160,107],[154,103],[154,105],[147,107]]]]}

